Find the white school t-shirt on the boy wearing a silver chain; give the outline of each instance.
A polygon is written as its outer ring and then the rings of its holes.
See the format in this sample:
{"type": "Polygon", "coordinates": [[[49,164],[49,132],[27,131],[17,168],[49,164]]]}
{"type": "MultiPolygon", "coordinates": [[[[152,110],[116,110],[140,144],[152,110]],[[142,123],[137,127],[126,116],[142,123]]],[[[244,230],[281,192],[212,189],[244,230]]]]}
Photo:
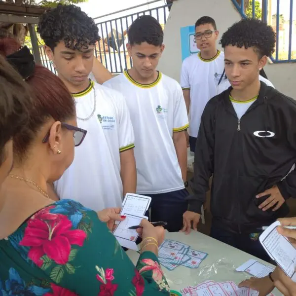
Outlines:
{"type": "Polygon", "coordinates": [[[100,211],[121,207],[122,182],[120,152],[134,147],[133,127],[123,96],[93,81],[73,94],[78,127],[87,130],[82,144],[75,147],[74,161],[60,180],[54,183],[61,199],[69,198],[85,207],[100,211]]]}

